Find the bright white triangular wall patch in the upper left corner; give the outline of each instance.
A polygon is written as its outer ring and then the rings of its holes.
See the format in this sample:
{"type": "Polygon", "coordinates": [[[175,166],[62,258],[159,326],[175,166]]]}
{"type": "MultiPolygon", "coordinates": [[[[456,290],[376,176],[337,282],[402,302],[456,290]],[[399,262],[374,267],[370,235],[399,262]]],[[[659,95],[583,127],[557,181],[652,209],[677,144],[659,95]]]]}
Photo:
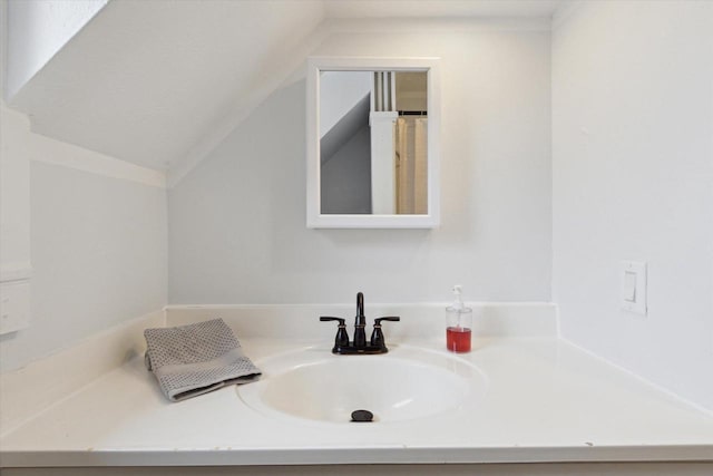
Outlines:
{"type": "Polygon", "coordinates": [[[8,4],[8,77],[11,98],[109,0],[2,0],[8,4]]]}

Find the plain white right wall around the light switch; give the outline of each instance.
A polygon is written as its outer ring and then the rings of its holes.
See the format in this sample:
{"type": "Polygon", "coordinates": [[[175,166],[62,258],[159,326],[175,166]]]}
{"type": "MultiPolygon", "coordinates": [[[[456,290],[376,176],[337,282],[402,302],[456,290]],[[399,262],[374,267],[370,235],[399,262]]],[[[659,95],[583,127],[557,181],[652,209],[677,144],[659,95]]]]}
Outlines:
{"type": "Polygon", "coordinates": [[[713,409],[713,3],[586,2],[553,33],[565,338],[713,409]],[[619,262],[648,263],[648,315],[619,262]]]}

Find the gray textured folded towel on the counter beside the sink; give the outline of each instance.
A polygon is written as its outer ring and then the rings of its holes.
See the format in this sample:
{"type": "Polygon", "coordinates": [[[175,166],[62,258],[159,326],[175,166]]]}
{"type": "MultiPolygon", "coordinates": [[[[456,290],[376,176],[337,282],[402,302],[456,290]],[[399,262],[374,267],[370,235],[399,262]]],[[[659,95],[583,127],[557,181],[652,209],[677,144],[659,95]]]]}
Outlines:
{"type": "Polygon", "coordinates": [[[175,328],[146,329],[145,362],[172,401],[260,377],[223,319],[175,328]]]}

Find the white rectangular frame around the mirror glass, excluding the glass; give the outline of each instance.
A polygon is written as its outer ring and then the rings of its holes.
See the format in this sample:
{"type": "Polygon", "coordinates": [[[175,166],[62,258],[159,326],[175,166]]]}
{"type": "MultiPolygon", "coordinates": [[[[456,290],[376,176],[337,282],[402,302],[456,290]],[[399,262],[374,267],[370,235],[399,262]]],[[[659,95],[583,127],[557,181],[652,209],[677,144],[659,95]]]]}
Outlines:
{"type": "Polygon", "coordinates": [[[439,58],[310,57],[306,81],[307,227],[433,229],[440,221],[439,58]],[[321,213],[320,71],[428,71],[428,214],[338,215],[321,213]]]}

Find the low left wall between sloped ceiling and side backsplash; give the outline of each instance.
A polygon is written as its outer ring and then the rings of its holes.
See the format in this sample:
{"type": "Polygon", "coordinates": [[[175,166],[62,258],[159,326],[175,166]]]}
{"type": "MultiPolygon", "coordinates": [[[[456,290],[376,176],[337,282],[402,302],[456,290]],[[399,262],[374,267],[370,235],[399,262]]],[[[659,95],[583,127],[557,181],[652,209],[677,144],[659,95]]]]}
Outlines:
{"type": "Polygon", "coordinates": [[[23,115],[0,113],[2,146],[29,167],[30,187],[27,206],[3,203],[3,213],[29,224],[32,260],[30,327],[0,336],[7,371],[160,310],[167,224],[164,174],[32,134],[23,115]]]}

